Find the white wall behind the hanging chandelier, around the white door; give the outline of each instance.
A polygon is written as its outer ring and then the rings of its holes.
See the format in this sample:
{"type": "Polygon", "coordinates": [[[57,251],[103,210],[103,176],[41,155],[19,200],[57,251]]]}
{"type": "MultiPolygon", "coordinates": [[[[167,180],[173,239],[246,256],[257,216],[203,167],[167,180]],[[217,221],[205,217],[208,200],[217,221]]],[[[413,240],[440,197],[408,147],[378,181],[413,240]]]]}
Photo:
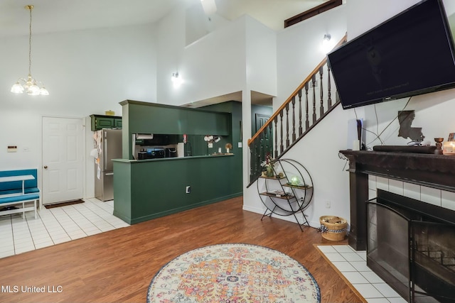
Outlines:
{"type": "Polygon", "coordinates": [[[156,100],[155,27],[33,35],[31,72],[47,97],[9,92],[28,74],[28,37],[0,40],[0,66],[0,170],[41,167],[41,116],[85,118],[109,109],[121,116],[119,101],[156,100]],[[18,152],[6,153],[7,145],[18,152]]]}

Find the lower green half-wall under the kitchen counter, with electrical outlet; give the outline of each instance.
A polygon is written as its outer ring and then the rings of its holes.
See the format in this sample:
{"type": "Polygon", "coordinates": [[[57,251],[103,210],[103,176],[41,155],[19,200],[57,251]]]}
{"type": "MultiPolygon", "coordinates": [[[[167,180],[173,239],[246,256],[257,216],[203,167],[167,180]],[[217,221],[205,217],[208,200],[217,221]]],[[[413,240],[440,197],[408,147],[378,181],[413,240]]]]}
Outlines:
{"type": "Polygon", "coordinates": [[[114,216],[137,224],[240,196],[234,162],[233,155],[114,160],[114,216]]]}

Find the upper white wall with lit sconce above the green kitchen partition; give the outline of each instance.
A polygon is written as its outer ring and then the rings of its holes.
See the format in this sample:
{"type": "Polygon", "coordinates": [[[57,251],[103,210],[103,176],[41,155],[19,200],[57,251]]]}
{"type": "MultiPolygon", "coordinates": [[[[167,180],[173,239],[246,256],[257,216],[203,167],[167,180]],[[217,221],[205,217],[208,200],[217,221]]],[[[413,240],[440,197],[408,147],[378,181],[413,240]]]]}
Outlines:
{"type": "Polygon", "coordinates": [[[276,94],[273,31],[250,16],[242,16],[186,46],[185,16],[183,8],[176,9],[159,22],[159,103],[187,104],[247,87],[276,94]],[[171,82],[174,72],[183,79],[178,89],[171,82]]]}

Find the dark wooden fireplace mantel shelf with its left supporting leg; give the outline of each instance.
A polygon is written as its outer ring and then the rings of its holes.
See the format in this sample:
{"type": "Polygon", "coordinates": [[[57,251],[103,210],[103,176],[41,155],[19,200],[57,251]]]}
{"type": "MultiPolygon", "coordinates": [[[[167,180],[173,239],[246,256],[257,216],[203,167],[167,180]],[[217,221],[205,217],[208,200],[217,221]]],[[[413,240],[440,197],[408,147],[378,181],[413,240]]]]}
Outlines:
{"type": "Polygon", "coordinates": [[[366,249],[368,175],[455,192],[455,156],[421,153],[341,150],[349,160],[349,245],[366,249]]]}

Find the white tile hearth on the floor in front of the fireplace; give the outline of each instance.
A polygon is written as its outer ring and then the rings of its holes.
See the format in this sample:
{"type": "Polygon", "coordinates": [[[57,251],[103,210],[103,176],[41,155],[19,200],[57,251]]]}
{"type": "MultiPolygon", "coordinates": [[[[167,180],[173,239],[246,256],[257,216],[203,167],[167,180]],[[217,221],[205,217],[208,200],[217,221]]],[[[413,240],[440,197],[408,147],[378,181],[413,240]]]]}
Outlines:
{"type": "Polygon", "coordinates": [[[366,251],[355,251],[348,245],[318,248],[368,303],[407,302],[367,267],[366,251]]]}

